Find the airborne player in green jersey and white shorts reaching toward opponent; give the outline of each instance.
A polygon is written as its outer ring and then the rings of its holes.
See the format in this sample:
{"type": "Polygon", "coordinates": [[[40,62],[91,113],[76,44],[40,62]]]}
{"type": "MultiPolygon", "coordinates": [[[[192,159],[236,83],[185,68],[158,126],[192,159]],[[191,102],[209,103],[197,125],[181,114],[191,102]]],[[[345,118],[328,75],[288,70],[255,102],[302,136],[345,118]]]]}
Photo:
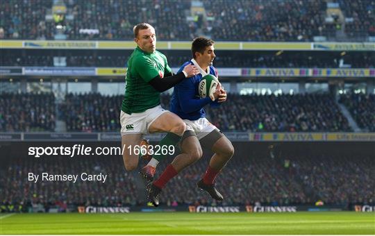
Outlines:
{"type": "MultiPolygon", "coordinates": [[[[187,65],[174,75],[167,58],[156,51],[155,29],[150,24],[137,24],[133,32],[138,47],[128,60],[120,115],[123,158],[128,171],[138,167],[139,153],[135,149],[144,134],[167,132],[158,144],[160,147],[175,146],[181,140],[185,123],[160,106],[160,93],[199,73],[194,65],[187,65]]],[[[156,165],[163,159],[162,153],[160,150],[153,153],[152,159],[141,169],[140,174],[147,183],[152,182],[156,165]]]]}

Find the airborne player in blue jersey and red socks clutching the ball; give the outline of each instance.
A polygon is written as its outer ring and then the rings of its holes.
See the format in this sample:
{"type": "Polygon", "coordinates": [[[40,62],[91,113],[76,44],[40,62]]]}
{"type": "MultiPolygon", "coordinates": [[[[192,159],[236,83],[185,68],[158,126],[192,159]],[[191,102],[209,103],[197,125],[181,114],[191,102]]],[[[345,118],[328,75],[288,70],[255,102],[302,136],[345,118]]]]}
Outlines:
{"type": "Polygon", "coordinates": [[[217,77],[217,70],[213,67],[215,48],[213,40],[198,37],[192,42],[193,59],[185,62],[186,65],[195,65],[199,74],[186,78],[174,86],[170,110],[181,117],[186,124],[186,130],[181,138],[181,154],[177,155],[160,177],[153,181],[149,188],[149,200],[158,206],[159,195],[166,183],[176,176],[185,167],[199,160],[202,156],[202,146],[214,152],[203,178],[197,183],[200,189],[205,190],[217,201],[222,201],[223,196],[215,188],[215,178],[224,168],[234,153],[231,141],[213,124],[206,119],[203,107],[210,104],[219,106],[226,101],[226,91],[219,84],[212,101],[210,97],[199,98],[198,85],[203,76],[212,74],[217,77]]]}

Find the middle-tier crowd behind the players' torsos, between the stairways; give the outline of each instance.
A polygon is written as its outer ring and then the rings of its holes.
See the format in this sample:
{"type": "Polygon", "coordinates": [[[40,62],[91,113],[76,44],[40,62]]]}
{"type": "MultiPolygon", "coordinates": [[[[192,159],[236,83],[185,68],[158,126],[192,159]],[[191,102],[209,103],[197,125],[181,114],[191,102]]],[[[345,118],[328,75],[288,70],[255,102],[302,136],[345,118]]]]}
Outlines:
{"type": "MultiPolygon", "coordinates": [[[[225,106],[206,109],[208,119],[229,131],[350,131],[333,97],[328,94],[230,94],[225,106]]],[[[169,94],[161,103],[169,108],[169,94]]],[[[117,131],[122,96],[69,94],[60,106],[68,131],[117,131]]]]}

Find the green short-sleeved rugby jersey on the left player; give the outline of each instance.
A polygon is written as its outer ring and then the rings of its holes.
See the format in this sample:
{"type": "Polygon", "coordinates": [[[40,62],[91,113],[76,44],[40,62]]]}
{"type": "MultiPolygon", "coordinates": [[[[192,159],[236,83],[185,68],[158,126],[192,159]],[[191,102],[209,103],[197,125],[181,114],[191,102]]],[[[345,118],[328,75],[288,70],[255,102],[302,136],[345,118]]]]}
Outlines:
{"type": "Polygon", "coordinates": [[[128,114],[139,113],[158,106],[160,92],[149,85],[149,81],[156,76],[163,78],[165,74],[171,72],[172,69],[163,53],[159,51],[147,53],[137,47],[128,60],[122,111],[128,114]]]}

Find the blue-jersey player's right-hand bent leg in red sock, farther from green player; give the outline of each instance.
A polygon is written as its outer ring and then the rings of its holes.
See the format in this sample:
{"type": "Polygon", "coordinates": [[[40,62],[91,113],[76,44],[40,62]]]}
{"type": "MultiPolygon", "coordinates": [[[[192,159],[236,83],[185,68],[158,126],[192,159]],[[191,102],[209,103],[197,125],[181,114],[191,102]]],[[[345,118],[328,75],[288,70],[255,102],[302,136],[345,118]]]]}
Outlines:
{"type": "Polygon", "coordinates": [[[203,178],[197,183],[200,189],[205,190],[218,201],[222,201],[224,198],[215,188],[215,178],[220,171],[225,167],[228,160],[230,160],[234,154],[234,148],[231,141],[228,140],[219,130],[215,129],[201,140],[202,146],[211,147],[214,152],[213,157],[210,160],[203,178]]]}

